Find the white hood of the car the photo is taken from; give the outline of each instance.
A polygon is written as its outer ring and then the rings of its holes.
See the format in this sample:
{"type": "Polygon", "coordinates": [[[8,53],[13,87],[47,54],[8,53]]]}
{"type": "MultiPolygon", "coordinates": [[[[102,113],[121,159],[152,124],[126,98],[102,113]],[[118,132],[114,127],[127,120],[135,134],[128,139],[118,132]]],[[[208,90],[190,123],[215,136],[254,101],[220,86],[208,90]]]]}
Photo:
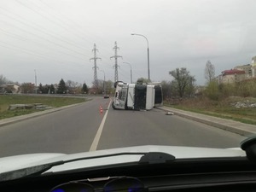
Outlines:
{"type": "MultiPolygon", "coordinates": [[[[113,148],[78,154],[21,154],[9,156],[0,158],[0,173],[11,172],[32,166],[44,165],[61,160],[66,161],[84,157],[94,157],[105,154],[140,152],[162,152],[166,154],[172,154],[173,156],[175,156],[176,159],[246,156],[245,152],[242,151],[240,148],[192,148],[147,145],[129,148],[113,148]]],[[[60,166],[54,166],[47,172],[62,172],[85,167],[108,166],[121,163],[137,162],[140,160],[142,156],[143,154],[125,154],[104,158],[96,157],[90,160],[77,160],[60,166]]]]}

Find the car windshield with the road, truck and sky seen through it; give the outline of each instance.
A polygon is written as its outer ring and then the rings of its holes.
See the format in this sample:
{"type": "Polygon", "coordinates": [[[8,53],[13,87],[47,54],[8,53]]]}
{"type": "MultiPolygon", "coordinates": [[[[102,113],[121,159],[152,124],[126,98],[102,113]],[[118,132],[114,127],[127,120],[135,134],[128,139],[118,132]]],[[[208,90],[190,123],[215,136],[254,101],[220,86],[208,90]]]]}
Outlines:
{"type": "Polygon", "coordinates": [[[239,148],[256,131],[255,6],[1,0],[0,157],[239,148]]]}

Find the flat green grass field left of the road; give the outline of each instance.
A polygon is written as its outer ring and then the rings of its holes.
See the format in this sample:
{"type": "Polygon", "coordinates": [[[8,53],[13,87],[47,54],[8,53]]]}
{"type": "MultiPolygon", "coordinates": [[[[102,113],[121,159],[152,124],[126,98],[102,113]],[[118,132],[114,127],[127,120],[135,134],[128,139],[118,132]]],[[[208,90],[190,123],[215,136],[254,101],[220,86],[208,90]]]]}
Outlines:
{"type": "Polygon", "coordinates": [[[11,104],[42,103],[49,107],[60,108],[62,106],[85,102],[84,97],[61,97],[61,96],[22,96],[22,95],[0,95],[0,119],[34,113],[38,109],[15,109],[9,110],[11,104]]]}

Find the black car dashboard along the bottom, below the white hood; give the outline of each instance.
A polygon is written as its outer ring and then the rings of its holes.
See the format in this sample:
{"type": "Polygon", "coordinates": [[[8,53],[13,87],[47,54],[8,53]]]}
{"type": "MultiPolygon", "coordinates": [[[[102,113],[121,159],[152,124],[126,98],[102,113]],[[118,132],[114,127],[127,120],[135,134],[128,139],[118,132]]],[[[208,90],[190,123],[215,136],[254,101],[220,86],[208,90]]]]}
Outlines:
{"type": "MultiPolygon", "coordinates": [[[[126,181],[125,181],[126,182],[126,181]]],[[[175,160],[161,164],[123,164],[66,172],[47,172],[0,183],[1,191],[255,191],[256,165],[246,157],[175,160]],[[119,180],[119,178],[121,178],[119,180]],[[141,188],[119,182],[132,178],[141,188]],[[123,179],[123,180],[122,180],[123,179]],[[111,182],[111,181],[115,182],[111,182]],[[82,187],[78,184],[82,183],[82,187]],[[108,189],[107,183],[113,185],[108,189]],[[58,189],[56,186],[64,186],[58,189]],[[90,186],[90,190],[86,186],[90,186]]]]}

